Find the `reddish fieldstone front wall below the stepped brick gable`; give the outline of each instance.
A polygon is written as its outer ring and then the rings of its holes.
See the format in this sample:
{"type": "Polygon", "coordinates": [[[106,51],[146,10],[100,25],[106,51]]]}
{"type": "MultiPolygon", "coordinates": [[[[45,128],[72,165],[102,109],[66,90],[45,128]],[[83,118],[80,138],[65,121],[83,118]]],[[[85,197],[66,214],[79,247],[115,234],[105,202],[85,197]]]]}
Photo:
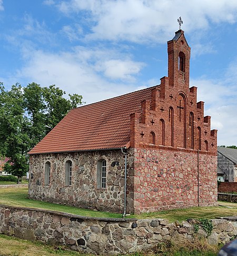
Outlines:
{"type": "Polygon", "coordinates": [[[134,170],[135,213],[216,203],[213,154],[136,148],[134,170]]]}

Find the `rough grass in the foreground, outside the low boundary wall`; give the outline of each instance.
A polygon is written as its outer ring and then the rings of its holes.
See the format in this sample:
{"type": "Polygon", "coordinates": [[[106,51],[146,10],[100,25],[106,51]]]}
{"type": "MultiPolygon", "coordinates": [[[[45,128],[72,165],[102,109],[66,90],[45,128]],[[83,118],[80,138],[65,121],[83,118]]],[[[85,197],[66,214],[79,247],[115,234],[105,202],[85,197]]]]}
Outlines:
{"type": "MultiPolygon", "coordinates": [[[[220,250],[220,245],[208,245],[204,241],[157,244],[153,251],[149,253],[136,252],[130,253],[130,256],[216,256],[220,250]]],[[[69,251],[65,247],[56,247],[43,244],[37,241],[27,241],[7,235],[0,234],[0,256],[93,256],[92,254],[82,254],[79,252],[69,251]]]]}

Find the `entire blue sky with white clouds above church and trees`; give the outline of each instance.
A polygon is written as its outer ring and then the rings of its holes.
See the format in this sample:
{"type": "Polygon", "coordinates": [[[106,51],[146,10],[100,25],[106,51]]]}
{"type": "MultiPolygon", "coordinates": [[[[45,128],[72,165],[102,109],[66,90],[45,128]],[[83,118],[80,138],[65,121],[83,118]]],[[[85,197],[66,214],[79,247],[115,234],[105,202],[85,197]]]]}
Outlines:
{"type": "Polygon", "coordinates": [[[0,81],[56,84],[86,103],[160,84],[179,16],[190,86],[218,144],[237,145],[235,0],[0,0],[0,81]]]}

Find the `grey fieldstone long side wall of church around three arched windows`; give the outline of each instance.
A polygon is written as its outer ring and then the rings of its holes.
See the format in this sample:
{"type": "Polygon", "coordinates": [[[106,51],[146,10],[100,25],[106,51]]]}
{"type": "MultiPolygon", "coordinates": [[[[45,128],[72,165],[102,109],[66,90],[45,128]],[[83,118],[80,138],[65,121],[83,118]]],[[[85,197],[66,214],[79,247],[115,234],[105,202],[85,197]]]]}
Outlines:
{"type": "MultiPolygon", "coordinates": [[[[29,198],[122,213],[124,155],[121,150],[30,155],[29,198]],[[97,161],[106,160],[106,188],[96,188],[97,161]],[[72,185],[65,185],[65,163],[72,161],[72,185]],[[44,184],[45,163],[50,184],[44,184]]],[[[133,212],[133,151],[127,155],[127,211],[133,212]]]]}

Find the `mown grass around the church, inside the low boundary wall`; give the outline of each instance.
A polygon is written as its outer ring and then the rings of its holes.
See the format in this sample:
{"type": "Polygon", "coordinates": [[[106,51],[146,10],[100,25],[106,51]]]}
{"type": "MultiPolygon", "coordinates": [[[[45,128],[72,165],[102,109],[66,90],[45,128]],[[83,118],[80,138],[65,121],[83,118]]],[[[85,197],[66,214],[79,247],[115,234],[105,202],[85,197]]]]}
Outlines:
{"type": "MultiPolygon", "coordinates": [[[[53,204],[35,200],[29,200],[27,198],[27,188],[0,188],[0,204],[46,209],[51,211],[66,212],[82,216],[93,216],[100,218],[121,218],[121,214],[93,211],[87,209],[76,208],[73,206],[65,206],[60,204],[53,204]]],[[[220,216],[236,216],[237,215],[237,203],[219,202],[224,206],[231,206],[232,208],[226,208],[223,206],[215,207],[193,207],[188,209],[169,210],[154,213],[144,213],[141,215],[130,215],[127,218],[138,219],[151,219],[162,218],[167,219],[170,222],[183,221],[186,219],[194,218],[208,218],[214,219],[220,216]]]]}

